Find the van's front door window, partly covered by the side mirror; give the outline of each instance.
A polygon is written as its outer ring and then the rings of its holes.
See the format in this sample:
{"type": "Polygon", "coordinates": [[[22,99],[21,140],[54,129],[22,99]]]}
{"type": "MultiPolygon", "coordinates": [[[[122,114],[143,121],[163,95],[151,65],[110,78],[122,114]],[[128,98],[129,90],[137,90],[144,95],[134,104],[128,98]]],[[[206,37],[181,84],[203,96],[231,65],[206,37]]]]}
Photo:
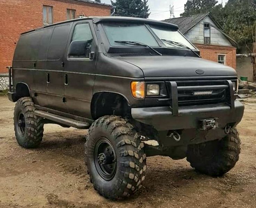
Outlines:
{"type": "Polygon", "coordinates": [[[93,47],[93,35],[88,23],[77,24],[71,39],[70,58],[89,58],[93,47]]]}

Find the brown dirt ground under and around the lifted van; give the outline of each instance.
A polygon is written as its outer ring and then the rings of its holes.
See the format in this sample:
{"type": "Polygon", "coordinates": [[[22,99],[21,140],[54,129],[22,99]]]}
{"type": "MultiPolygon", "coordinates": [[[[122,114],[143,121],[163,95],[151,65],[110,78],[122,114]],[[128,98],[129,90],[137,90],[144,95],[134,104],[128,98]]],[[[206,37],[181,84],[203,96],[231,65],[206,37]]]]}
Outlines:
{"type": "Polygon", "coordinates": [[[238,126],[240,160],[225,176],[196,173],[185,159],[151,157],[142,189],[130,200],[113,202],[97,194],[86,174],[87,131],[47,124],[39,148],[21,148],[13,130],[14,103],[0,96],[0,207],[256,207],[256,99],[245,106],[238,126]]]}

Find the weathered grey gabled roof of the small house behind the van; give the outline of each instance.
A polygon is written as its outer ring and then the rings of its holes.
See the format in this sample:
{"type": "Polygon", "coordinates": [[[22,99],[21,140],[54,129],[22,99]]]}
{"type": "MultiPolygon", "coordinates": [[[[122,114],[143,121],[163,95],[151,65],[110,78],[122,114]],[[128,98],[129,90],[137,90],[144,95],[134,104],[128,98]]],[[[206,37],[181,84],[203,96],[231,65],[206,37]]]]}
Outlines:
{"type": "Polygon", "coordinates": [[[222,26],[214,19],[213,16],[211,16],[210,12],[203,13],[203,14],[198,14],[198,15],[191,15],[187,17],[178,17],[178,18],[173,18],[173,19],[165,19],[163,20],[164,22],[171,23],[178,25],[179,31],[181,31],[183,34],[186,34],[187,32],[190,31],[195,25],[197,25],[202,19],[205,17],[209,16],[213,22],[216,24],[217,29],[219,32],[221,32],[229,41],[230,43],[235,46],[237,45],[237,42],[235,42],[229,35],[227,35],[222,26]]]}

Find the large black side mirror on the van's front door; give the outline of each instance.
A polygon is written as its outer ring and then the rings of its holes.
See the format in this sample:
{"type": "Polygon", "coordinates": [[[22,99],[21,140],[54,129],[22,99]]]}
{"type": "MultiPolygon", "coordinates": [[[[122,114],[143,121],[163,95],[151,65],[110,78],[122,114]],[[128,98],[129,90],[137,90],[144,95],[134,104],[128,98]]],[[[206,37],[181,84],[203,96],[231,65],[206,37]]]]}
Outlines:
{"type": "Polygon", "coordinates": [[[67,56],[89,58],[91,41],[92,40],[72,41],[67,56]]]}

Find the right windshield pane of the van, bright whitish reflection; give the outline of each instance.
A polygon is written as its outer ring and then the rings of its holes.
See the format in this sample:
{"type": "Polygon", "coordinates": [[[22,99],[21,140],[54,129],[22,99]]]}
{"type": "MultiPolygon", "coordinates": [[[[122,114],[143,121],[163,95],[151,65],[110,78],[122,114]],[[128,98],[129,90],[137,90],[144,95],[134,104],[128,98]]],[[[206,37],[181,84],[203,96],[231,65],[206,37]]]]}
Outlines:
{"type": "MultiPolygon", "coordinates": [[[[176,31],[167,27],[161,27],[161,26],[150,25],[150,27],[154,31],[154,33],[159,37],[159,39],[182,43],[185,46],[189,47],[190,49],[195,50],[195,47],[189,41],[187,41],[186,38],[179,31],[176,31]]],[[[178,46],[177,44],[175,45],[175,44],[167,43],[166,41],[164,42],[164,44],[166,45],[166,47],[172,47],[172,48],[181,47],[181,46],[178,46]]]]}

